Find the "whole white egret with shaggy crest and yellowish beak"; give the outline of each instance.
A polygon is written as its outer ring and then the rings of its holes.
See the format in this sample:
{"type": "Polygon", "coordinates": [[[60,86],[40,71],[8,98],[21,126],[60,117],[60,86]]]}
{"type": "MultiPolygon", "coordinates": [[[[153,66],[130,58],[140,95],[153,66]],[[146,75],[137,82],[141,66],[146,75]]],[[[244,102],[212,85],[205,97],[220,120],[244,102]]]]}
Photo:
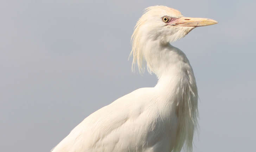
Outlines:
{"type": "Polygon", "coordinates": [[[183,17],[166,6],[146,8],[132,35],[133,65],[158,77],[78,124],[52,152],[192,151],[197,127],[197,85],[186,55],[170,43],[215,20],[183,17]]]}

